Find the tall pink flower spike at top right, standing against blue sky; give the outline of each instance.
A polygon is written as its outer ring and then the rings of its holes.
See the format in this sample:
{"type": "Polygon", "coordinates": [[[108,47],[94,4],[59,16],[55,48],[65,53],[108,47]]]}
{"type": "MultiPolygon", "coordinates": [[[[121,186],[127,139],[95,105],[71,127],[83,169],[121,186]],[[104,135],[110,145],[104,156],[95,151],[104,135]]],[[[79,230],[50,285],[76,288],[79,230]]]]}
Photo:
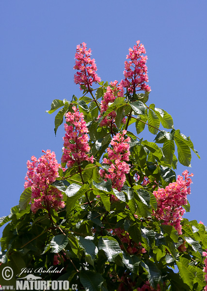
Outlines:
{"type": "Polygon", "coordinates": [[[125,61],[125,79],[121,81],[121,84],[127,88],[128,93],[136,93],[136,88],[139,88],[139,91],[151,91],[149,85],[145,84],[145,82],[148,82],[147,66],[145,65],[147,56],[142,54],[146,53],[146,51],[143,44],[139,44],[140,41],[138,40],[133,49],[129,48],[129,54],[126,59],[130,59],[130,61],[125,61]]]}

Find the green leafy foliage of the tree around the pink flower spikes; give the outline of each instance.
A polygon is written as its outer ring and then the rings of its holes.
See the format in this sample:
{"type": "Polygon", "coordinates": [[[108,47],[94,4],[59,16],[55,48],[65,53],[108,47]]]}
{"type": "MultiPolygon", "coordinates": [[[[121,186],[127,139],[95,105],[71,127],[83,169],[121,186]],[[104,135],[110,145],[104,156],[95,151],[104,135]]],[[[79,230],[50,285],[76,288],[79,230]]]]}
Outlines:
{"type": "MultiPolygon", "coordinates": [[[[55,133],[65,114],[73,112],[72,106],[84,114],[90,155],[95,162],[59,169],[59,178],[49,187],[63,194],[62,210],[33,213],[31,187],[24,190],[19,205],[0,218],[0,226],[4,226],[0,272],[6,266],[12,267],[15,275],[22,268],[49,268],[57,257],[57,267],[64,270],[59,280],[69,280],[70,286],[78,282],[80,290],[137,290],[146,281],[155,290],[158,284],[161,290],[203,290],[202,252],[207,248],[207,227],[182,219],[182,234],[178,235],[174,226],[155,217],[160,206],[153,194],[175,182],[177,161],[190,166],[191,150],[199,157],[190,137],[174,129],[169,113],[155,104],[145,104],[149,92],[116,97],[103,116],[98,116],[98,99],[103,98],[108,82],[99,85],[95,96],[93,89],[89,92],[81,85],[83,96],[79,99],[73,96],[71,101],[53,100],[48,113],[60,109],[55,117],[55,133]],[[116,113],[114,126],[100,127],[101,120],[112,112],[116,113]],[[126,124],[122,122],[124,117],[126,124]],[[133,126],[139,137],[128,130],[133,126]],[[154,142],[143,140],[145,126],[156,135],[154,142]],[[108,171],[103,157],[112,137],[124,129],[131,140],[127,162],[130,172],[118,191],[113,188],[114,181],[103,180],[98,171],[108,171]]],[[[184,208],[190,211],[190,204],[184,208]]],[[[44,280],[57,278],[55,273],[44,276],[44,280]]]]}

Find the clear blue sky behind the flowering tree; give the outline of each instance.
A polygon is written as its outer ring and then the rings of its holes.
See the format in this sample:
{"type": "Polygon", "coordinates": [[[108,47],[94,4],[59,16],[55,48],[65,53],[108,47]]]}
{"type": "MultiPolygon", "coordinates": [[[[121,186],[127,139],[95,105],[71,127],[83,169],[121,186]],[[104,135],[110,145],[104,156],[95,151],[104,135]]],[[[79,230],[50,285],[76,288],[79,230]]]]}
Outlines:
{"type": "Polygon", "coordinates": [[[207,225],[206,16],[206,0],[1,0],[0,216],[18,204],[32,155],[51,149],[60,162],[64,129],[55,137],[55,115],[45,111],[53,99],[80,97],[73,81],[76,45],[92,49],[103,81],[121,81],[128,48],[141,40],[152,89],[148,104],[170,113],[201,156],[192,154],[185,217],[207,225]]]}

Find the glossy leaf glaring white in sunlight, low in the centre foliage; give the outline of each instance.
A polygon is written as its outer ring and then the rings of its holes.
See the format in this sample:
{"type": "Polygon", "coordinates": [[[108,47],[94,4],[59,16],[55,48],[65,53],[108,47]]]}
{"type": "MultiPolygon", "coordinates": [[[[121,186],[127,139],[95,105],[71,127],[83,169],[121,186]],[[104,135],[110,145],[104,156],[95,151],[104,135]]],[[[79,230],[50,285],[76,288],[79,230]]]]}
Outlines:
{"type": "Polygon", "coordinates": [[[122,253],[119,243],[112,237],[100,237],[98,241],[98,249],[103,250],[109,261],[113,261],[118,254],[122,253]]]}

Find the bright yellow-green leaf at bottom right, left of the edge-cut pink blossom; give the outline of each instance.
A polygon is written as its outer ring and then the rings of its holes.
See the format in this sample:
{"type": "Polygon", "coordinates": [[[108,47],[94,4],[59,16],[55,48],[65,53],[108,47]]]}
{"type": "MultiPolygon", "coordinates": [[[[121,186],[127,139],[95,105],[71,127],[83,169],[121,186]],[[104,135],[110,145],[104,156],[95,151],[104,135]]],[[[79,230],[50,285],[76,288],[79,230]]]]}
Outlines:
{"type": "Polygon", "coordinates": [[[189,264],[190,260],[186,258],[180,258],[179,260],[180,261],[176,261],[177,267],[179,269],[179,274],[183,279],[183,282],[186,283],[192,290],[193,280],[196,275],[196,269],[189,264]]]}

